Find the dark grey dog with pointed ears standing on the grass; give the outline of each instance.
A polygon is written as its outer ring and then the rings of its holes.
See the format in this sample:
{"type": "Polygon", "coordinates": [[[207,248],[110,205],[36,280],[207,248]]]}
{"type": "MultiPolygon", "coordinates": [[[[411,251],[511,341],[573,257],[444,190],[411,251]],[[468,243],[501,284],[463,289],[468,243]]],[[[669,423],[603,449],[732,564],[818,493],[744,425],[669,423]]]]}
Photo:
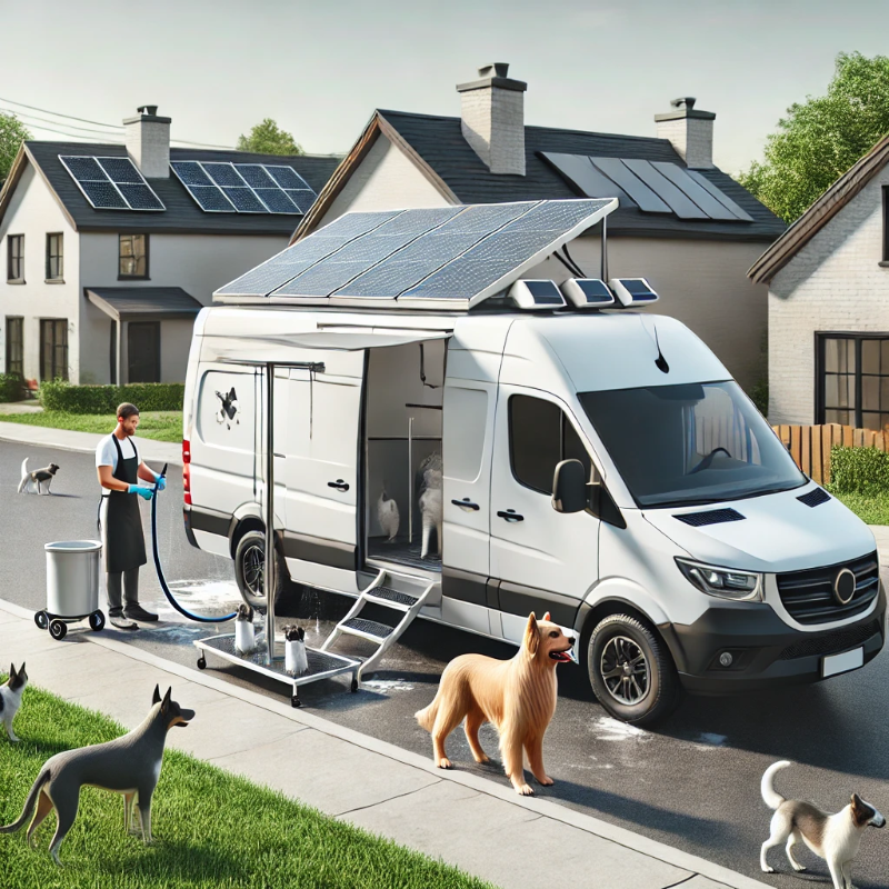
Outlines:
{"type": "Polygon", "coordinates": [[[128,735],[106,743],[66,750],[46,761],[40,775],[24,800],[19,820],[0,827],[0,833],[14,833],[21,830],[37,803],[31,826],[28,828],[28,843],[40,822],[56,809],[58,826],[49,851],[57,865],[59,847],[77,818],[80,788],[92,785],[104,790],[123,793],[123,829],[129,830],[133,801],[139,806],[139,825],[146,845],[151,842],[151,797],[160,778],[163,761],[163,746],[167,732],[173,726],[187,726],[193,718],[193,710],[183,710],[170,700],[168,689],[160,697],[154,686],[151,710],[144,721],[128,735]]]}

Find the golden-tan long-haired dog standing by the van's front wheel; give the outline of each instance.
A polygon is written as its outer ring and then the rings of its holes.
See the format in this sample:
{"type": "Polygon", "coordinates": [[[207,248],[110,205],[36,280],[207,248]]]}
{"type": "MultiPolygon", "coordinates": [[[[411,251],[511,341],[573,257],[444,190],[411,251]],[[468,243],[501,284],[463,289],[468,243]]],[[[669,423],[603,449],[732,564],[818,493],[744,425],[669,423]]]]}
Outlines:
{"type": "Polygon", "coordinates": [[[576,661],[575,639],[550,621],[549,611],[538,622],[528,618],[521,647],[513,658],[461,655],[441,673],[432,703],[414,713],[432,736],[432,759],[450,769],[444,739],[466,718],[463,729],[476,762],[488,757],[479,743],[479,729],[492,722],[500,733],[500,755],[512,787],[522,796],[535,791],[525,781],[522,749],[535,778],[553,783],[543,768],[543,732],[556,712],[556,665],[576,661]]]}

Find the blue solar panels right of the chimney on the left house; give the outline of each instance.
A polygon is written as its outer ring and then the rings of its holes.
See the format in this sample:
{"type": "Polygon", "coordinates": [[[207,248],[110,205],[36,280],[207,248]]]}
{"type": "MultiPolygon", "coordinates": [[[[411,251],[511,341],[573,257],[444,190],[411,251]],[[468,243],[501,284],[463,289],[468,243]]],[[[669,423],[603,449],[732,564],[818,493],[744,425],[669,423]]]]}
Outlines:
{"type": "Polygon", "coordinates": [[[178,160],[170,167],[206,213],[301,216],[318,197],[292,167],[283,164],[178,160]]]}

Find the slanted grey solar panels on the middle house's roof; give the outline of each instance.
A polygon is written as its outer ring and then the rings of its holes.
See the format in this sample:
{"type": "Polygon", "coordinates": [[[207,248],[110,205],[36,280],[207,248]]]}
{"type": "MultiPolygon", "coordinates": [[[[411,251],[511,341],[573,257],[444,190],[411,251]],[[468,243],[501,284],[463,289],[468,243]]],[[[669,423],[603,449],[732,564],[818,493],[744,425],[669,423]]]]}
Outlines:
{"type": "Polygon", "coordinates": [[[672,213],[679,219],[752,222],[753,218],[698,170],[669,161],[591,158],[541,152],[588,198],[620,200],[646,213],[672,213]]]}

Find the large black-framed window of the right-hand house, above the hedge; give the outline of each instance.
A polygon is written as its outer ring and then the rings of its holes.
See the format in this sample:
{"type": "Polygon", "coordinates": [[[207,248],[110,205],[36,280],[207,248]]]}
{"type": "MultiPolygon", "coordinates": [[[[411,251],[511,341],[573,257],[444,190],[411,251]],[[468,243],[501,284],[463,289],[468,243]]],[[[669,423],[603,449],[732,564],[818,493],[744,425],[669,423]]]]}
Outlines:
{"type": "Polygon", "coordinates": [[[817,420],[889,429],[889,333],[820,333],[817,420]]]}

